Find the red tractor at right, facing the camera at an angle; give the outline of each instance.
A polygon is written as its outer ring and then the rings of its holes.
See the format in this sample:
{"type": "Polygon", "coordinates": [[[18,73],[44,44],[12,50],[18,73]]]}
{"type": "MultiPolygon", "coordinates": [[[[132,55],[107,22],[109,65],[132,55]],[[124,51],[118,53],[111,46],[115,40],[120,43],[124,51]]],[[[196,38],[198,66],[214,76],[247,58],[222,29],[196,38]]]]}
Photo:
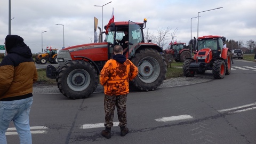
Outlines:
{"type": "MultiPolygon", "coordinates": [[[[194,37],[195,38],[195,37],[194,37]]],[[[187,59],[183,63],[183,74],[186,77],[204,74],[206,70],[212,70],[215,79],[222,79],[231,71],[231,53],[227,47],[223,47],[225,37],[202,36],[191,40],[193,42],[194,59],[187,59]]]]}

